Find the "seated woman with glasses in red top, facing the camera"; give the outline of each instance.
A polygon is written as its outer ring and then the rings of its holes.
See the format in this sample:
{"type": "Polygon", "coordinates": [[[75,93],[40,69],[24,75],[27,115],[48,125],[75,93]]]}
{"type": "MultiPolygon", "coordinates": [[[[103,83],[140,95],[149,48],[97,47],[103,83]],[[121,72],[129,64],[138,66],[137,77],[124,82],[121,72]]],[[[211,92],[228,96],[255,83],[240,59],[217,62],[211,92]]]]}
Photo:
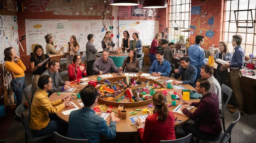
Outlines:
{"type": "Polygon", "coordinates": [[[73,62],[67,68],[68,71],[68,80],[73,81],[81,79],[86,76],[85,65],[81,63],[81,56],[75,54],[73,57],[73,62]]]}

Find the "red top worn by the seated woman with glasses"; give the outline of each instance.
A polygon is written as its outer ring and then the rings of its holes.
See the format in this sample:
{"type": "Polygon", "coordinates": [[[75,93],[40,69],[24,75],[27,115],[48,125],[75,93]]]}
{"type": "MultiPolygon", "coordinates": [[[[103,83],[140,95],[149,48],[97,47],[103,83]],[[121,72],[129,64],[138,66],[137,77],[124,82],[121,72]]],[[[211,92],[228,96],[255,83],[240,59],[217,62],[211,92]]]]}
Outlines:
{"type": "MultiPolygon", "coordinates": [[[[76,79],[81,79],[81,78],[83,78],[83,76],[87,75],[87,72],[85,72],[85,69],[83,71],[81,71],[79,69],[79,67],[75,67],[75,66],[76,65],[73,62],[72,62],[72,64],[70,64],[68,66],[67,71],[68,71],[68,76],[69,76],[68,80],[69,81],[74,81],[76,79]],[[77,72],[76,75],[75,75],[75,72],[77,72]],[[85,72],[85,73],[83,73],[83,72],[85,72]]],[[[83,63],[82,63],[82,66],[85,67],[83,63]]]]}

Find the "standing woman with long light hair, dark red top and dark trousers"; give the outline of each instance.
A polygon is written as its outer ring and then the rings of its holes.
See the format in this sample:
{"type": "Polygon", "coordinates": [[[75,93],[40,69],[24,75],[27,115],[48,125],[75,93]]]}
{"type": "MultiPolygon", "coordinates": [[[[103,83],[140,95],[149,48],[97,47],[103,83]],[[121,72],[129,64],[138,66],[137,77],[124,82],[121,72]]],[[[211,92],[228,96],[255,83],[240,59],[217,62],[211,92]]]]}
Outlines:
{"type": "Polygon", "coordinates": [[[155,38],[151,42],[151,47],[149,50],[149,59],[150,59],[150,64],[152,65],[153,61],[156,59],[156,54],[157,54],[157,49],[155,47],[158,46],[159,41],[161,40],[162,34],[157,33],[155,35],[155,38]]]}

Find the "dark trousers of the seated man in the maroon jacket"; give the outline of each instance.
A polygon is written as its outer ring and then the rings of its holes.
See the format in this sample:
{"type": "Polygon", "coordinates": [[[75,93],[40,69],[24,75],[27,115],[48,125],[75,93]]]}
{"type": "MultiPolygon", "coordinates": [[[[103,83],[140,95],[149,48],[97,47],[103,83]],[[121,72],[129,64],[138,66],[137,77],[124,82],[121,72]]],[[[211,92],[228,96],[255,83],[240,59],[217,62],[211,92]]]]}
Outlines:
{"type": "Polygon", "coordinates": [[[185,123],[183,125],[183,130],[185,131],[186,135],[189,133],[193,134],[189,143],[195,143],[195,140],[193,137],[199,137],[200,139],[205,139],[208,141],[216,140],[219,137],[219,135],[213,135],[213,134],[209,134],[208,132],[199,131],[199,128],[197,125],[189,124],[189,123],[185,123]]]}

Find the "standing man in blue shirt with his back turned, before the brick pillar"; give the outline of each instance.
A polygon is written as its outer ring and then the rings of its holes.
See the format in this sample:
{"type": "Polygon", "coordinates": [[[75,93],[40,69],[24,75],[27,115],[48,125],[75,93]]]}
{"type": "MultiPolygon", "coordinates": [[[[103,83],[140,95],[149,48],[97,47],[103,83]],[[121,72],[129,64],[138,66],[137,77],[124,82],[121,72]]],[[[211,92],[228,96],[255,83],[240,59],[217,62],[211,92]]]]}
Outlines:
{"type": "Polygon", "coordinates": [[[200,47],[203,44],[204,44],[204,36],[196,35],[195,44],[189,46],[189,51],[188,51],[190,64],[193,65],[198,70],[196,80],[198,78],[201,78],[201,75],[200,75],[201,67],[207,63],[205,61],[204,50],[200,47]]]}

